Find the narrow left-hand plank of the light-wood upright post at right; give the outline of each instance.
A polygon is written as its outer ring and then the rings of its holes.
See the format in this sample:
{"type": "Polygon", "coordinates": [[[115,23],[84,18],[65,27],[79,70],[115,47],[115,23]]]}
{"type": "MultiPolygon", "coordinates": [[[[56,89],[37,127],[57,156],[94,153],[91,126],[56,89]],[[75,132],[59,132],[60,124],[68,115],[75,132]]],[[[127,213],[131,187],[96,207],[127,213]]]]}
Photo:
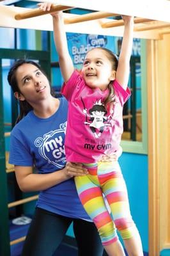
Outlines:
{"type": "Polygon", "coordinates": [[[160,186],[158,169],[158,79],[157,42],[147,42],[147,84],[148,86],[148,184],[149,184],[149,253],[160,255],[160,186]]]}

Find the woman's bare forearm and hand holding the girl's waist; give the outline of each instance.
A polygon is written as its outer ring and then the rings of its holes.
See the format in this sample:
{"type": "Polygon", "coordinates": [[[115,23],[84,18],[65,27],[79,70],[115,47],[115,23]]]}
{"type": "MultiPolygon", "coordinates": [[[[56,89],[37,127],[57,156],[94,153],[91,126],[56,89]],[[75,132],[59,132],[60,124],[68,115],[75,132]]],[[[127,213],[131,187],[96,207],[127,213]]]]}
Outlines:
{"type": "Polygon", "coordinates": [[[33,173],[32,166],[15,165],[17,183],[23,192],[45,190],[72,177],[86,174],[87,170],[80,163],[68,162],[62,170],[45,174],[33,173]]]}

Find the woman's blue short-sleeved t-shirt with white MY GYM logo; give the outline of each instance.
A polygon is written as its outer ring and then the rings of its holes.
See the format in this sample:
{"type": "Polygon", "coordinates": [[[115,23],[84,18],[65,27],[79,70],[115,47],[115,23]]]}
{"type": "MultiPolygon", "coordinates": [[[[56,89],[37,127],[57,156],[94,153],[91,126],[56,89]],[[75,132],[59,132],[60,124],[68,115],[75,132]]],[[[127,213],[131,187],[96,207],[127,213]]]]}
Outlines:
{"type": "MultiPolygon", "coordinates": [[[[38,173],[51,173],[65,167],[67,102],[61,98],[59,109],[49,118],[30,111],[12,130],[10,164],[35,166],[38,173]]],[[[40,191],[36,205],[56,214],[88,220],[73,179],[40,191]]]]}

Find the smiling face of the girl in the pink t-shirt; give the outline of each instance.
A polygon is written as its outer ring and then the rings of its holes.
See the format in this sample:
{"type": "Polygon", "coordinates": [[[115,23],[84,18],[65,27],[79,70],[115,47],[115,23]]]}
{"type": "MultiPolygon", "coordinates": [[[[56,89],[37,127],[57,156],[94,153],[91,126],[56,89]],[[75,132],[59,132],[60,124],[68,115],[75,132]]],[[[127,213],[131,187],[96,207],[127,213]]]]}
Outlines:
{"type": "Polygon", "coordinates": [[[115,79],[115,71],[105,52],[95,48],[86,55],[82,76],[89,87],[105,90],[110,81],[115,79]]]}

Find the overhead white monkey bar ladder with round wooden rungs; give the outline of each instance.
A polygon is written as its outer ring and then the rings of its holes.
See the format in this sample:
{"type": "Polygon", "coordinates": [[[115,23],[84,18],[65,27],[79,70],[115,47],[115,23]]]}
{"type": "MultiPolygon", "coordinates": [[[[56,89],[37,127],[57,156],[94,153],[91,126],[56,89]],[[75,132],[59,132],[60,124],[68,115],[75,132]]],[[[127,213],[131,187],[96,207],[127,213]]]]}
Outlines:
{"type": "Polygon", "coordinates": [[[90,3],[79,0],[62,0],[52,6],[52,10],[46,12],[38,8],[1,5],[0,26],[52,31],[52,17],[48,13],[73,8],[83,8],[93,12],[84,15],[63,13],[66,32],[122,36],[123,20],[107,18],[123,14],[135,16],[135,38],[160,39],[164,31],[170,32],[170,2],[167,0],[130,0],[128,3],[125,0],[105,0],[104,3],[97,0],[91,0],[90,3]],[[130,8],[128,8],[129,4],[130,8]]]}

